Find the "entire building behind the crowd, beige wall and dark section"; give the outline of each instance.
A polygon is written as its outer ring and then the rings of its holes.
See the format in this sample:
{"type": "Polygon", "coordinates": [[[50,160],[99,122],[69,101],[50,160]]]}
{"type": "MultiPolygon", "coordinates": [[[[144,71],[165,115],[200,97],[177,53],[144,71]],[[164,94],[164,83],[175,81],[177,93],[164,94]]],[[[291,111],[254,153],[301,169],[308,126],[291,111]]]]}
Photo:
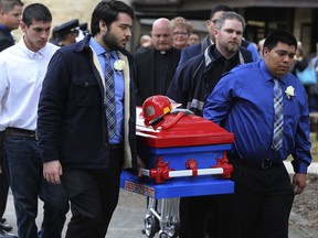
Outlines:
{"type": "MultiPolygon", "coordinates": [[[[22,0],[25,6],[39,2],[22,0]]],[[[87,22],[100,0],[41,0],[53,14],[52,29],[72,19],[80,23],[87,22]]],[[[155,19],[172,19],[181,15],[193,23],[195,31],[204,36],[208,32],[205,21],[210,18],[211,8],[218,3],[227,4],[246,20],[244,36],[255,43],[265,37],[272,30],[285,29],[295,34],[303,43],[305,54],[316,52],[318,42],[318,0],[124,0],[136,13],[132,39],[128,50],[134,52],[141,33],[150,33],[155,19]]],[[[21,30],[13,31],[19,40],[21,30]]]]}

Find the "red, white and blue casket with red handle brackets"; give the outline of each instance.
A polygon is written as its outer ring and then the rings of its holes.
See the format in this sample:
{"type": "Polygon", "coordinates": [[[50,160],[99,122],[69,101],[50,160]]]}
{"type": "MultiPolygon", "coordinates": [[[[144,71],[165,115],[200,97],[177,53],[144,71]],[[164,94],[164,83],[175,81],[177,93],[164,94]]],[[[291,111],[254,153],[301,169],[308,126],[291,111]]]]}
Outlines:
{"type": "Polygon", "coordinates": [[[137,176],[124,170],[120,187],[152,198],[230,194],[233,167],[227,162],[234,134],[218,125],[177,110],[145,125],[137,107],[138,155],[145,163],[137,176]],[[156,128],[156,129],[155,129],[156,128]]]}

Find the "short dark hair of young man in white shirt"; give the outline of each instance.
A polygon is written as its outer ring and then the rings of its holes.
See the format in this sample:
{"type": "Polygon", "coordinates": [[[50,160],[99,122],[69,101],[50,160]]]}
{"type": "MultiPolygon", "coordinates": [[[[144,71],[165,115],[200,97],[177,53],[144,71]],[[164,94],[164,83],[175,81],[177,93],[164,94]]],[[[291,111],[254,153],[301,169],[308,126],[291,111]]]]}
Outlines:
{"type": "Polygon", "coordinates": [[[44,4],[33,3],[24,9],[22,21],[26,26],[30,26],[33,21],[52,22],[52,14],[44,4]]]}

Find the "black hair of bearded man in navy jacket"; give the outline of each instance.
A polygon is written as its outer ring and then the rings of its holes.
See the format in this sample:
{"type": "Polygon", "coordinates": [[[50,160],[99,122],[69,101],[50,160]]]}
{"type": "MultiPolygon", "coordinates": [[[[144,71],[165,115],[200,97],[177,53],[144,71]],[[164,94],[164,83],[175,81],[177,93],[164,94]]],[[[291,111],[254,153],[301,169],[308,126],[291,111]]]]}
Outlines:
{"type": "Polygon", "coordinates": [[[135,18],[134,10],[123,1],[116,0],[103,0],[100,1],[93,11],[91,21],[92,35],[95,36],[99,31],[99,21],[104,21],[109,25],[117,20],[118,13],[124,12],[135,18]]]}

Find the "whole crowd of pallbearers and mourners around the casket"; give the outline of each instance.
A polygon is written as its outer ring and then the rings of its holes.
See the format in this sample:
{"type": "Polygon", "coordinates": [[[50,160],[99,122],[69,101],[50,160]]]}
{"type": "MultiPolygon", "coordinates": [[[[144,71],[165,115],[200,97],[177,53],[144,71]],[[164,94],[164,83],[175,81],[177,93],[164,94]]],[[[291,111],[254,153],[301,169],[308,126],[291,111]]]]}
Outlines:
{"type": "Polygon", "coordinates": [[[73,19],[50,37],[46,6],[0,0],[0,238],[17,237],[4,216],[9,186],[20,238],[61,238],[70,209],[67,238],[105,237],[121,169],[142,166],[136,106],[153,95],[235,134],[234,194],[182,197],[179,237],[287,238],[318,95],[297,73],[310,66],[318,76],[318,53],[307,58],[284,30],[257,45],[244,40],[245,19],[224,4],[212,8],[202,41],[187,19],[159,18],[130,53],[134,19],[125,2],[103,0],[89,31],[73,19]]]}

